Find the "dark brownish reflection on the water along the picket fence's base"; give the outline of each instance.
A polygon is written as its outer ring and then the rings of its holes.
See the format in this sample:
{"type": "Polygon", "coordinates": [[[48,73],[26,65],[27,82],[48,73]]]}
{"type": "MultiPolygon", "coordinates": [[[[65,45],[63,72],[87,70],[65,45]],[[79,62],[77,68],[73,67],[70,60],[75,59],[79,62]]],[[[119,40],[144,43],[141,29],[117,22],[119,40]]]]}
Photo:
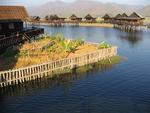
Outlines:
{"type": "Polygon", "coordinates": [[[64,74],[64,75],[56,75],[53,78],[45,77],[42,79],[37,79],[34,81],[30,81],[27,83],[22,83],[16,86],[11,86],[7,88],[2,88],[0,90],[0,101],[7,97],[17,97],[19,95],[24,96],[26,94],[33,95],[41,90],[50,89],[53,87],[63,86],[64,92],[69,90],[69,86],[71,82],[74,80],[83,79],[88,75],[92,75],[93,72],[103,72],[113,68],[116,64],[107,64],[107,65],[96,65],[94,69],[88,72],[81,73],[72,73],[72,74],[64,74]]]}

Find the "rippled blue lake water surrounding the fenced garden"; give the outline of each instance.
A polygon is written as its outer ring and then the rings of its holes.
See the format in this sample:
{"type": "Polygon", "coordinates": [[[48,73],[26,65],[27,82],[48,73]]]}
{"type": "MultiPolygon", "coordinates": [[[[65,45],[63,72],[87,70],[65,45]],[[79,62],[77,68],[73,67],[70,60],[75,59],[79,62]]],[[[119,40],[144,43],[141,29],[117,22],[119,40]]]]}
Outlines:
{"type": "Polygon", "coordinates": [[[150,113],[150,32],[45,27],[54,35],[117,45],[126,61],[0,91],[0,113],[150,113]]]}

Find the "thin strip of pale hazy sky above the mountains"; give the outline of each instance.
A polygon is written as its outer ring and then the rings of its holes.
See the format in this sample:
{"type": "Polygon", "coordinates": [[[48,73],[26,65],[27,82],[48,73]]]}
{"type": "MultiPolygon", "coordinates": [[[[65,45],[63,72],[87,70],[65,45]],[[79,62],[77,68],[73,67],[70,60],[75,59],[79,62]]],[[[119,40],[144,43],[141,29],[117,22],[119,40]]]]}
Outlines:
{"type": "MultiPolygon", "coordinates": [[[[56,1],[56,0],[0,0],[0,5],[40,5],[44,4],[48,1],[56,1]]],[[[58,0],[57,0],[58,1],[58,0]]],[[[64,2],[74,2],[76,0],[59,0],[64,2]]],[[[80,1],[80,0],[78,0],[80,1]]],[[[86,1],[86,0],[84,0],[86,1]]],[[[91,0],[93,1],[93,0],[91,0]]],[[[129,4],[129,5],[148,5],[150,4],[150,0],[96,0],[104,3],[119,3],[119,4],[129,4]]]]}

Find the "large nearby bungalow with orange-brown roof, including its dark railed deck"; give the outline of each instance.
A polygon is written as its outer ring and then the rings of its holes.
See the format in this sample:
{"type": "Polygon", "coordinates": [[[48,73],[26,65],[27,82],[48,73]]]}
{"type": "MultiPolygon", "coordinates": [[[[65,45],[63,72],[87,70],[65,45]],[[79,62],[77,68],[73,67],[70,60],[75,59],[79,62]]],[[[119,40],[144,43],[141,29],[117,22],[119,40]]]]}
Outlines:
{"type": "Polygon", "coordinates": [[[23,6],[0,6],[0,49],[44,33],[42,28],[28,28],[28,18],[23,6]]]}

